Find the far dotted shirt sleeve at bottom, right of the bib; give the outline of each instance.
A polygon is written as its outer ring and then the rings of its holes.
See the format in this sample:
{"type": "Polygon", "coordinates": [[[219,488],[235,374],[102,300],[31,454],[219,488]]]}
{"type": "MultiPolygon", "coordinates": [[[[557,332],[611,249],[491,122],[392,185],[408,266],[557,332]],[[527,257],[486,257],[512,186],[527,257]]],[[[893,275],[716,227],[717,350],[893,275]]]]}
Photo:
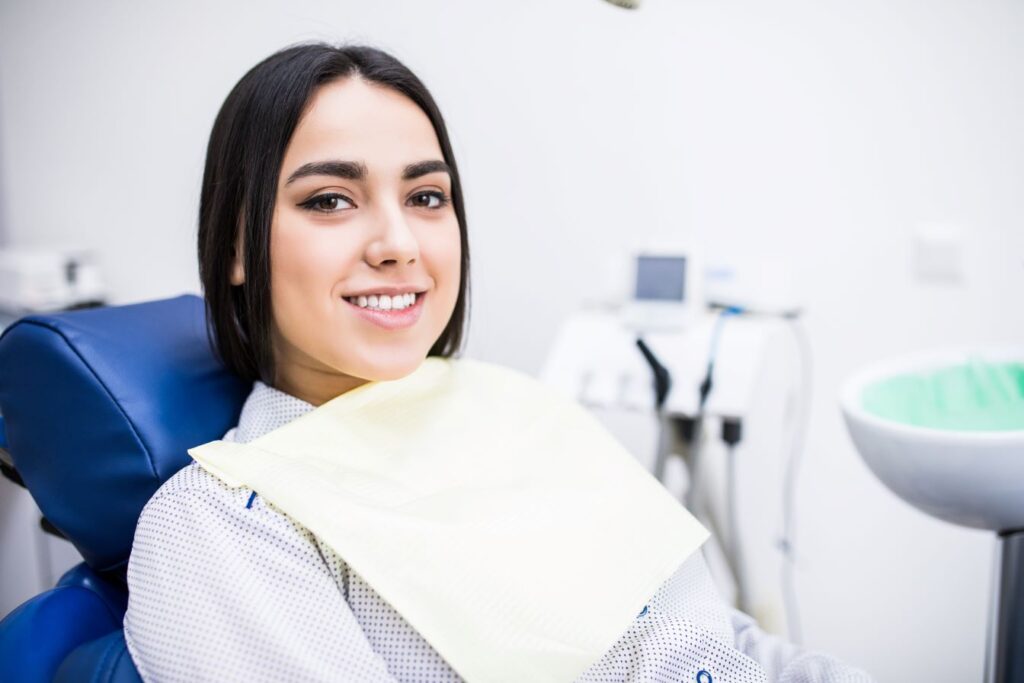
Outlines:
{"type": "Polygon", "coordinates": [[[760,664],[771,683],[874,683],[866,672],[765,633],[753,616],[729,610],[736,649],[760,664]]]}

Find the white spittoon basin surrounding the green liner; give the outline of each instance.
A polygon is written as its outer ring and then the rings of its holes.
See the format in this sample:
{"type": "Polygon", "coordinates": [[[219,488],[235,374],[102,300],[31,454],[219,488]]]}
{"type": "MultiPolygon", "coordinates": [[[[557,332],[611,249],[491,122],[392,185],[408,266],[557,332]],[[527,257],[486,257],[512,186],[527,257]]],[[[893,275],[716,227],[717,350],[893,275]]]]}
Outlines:
{"type": "Polygon", "coordinates": [[[954,524],[1024,529],[1024,430],[954,431],[867,413],[865,388],[969,362],[1024,362],[1024,348],[938,350],[871,365],[843,386],[847,428],[868,468],[919,510],[954,524]]]}

